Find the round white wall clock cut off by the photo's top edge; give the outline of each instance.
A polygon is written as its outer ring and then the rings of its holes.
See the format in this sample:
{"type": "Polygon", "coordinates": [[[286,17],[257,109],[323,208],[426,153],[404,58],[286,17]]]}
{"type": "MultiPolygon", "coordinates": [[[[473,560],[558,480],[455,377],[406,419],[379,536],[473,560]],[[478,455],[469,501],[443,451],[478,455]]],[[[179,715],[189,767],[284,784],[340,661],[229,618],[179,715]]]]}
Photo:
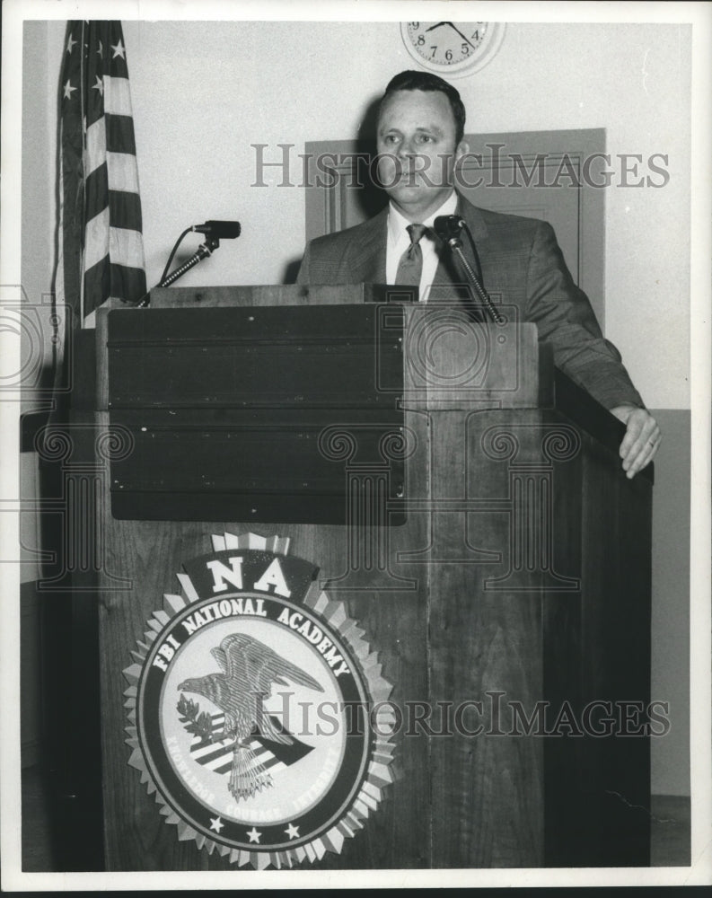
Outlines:
{"type": "Polygon", "coordinates": [[[470,75],[486,66],[504,37],[503,22],[402,22],[410,55],[438,75],[470,75]]]}

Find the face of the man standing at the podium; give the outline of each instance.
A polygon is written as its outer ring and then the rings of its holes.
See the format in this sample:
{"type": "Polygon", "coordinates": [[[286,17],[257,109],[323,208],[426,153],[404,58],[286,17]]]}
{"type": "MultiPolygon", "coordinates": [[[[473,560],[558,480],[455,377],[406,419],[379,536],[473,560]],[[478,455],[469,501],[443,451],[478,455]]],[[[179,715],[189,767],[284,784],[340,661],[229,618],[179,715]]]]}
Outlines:
{"type": "Polygon", "coordinates": [[[455,140],[450,101],[439,91],[397,91],[378,119],[378,175],[400,212],[422,221],[448,197],[455,160],[467,149],[455,140]]]}

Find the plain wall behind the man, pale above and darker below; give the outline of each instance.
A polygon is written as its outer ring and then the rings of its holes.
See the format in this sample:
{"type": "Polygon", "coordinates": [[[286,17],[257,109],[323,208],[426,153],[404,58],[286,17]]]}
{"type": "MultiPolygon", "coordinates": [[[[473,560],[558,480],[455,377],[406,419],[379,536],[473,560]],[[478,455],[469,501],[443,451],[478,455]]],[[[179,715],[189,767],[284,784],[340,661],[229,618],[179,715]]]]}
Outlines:
{"type": "MultiPolygon", "coordinates": [[[[48,289],[54,220],[55,101],[64,24],[26,26],[22,278],[48,289]],[[44,58],[43,58],[44,55],[44,58]],[[49,100],[47,101],[47,97],[49,100]],[[38,179],[37,181],[33,179],[38,179]]],[[[391,75],[412,67],[395,22],[125,22],[147,279],[161,275],[172,243],[207,218],[239,219],[243,234],[181,281],[279,283],[303,251],[303,190],[279,187],[281,169],[256,181],[253,144],[354,136],[391,75]]],[[[661,189],[606,191],[606,332],[646,403],[672,427],[655,499],[654,687],[672,700],[672,730],[656,740],[655,792],[686,794],[688,629],[690,29],[640,24],[510,24],[497,57],[459,79],[469,130],[607,128],[616,154],[668,155],[661,189]],[[672,308],[672,312],[671,312],[672,308]],[[687,428],[687,429],[686,429],[687,428]],[[678,445],[679,444],[679,445],[678,445]]],[[[645,173],[645,172],[644,172],[645,173]]],[[[630,176],[628,180],[635,181],[630,176]]],[[[188,239],[197,245],[195,237],[188,239]]]]}

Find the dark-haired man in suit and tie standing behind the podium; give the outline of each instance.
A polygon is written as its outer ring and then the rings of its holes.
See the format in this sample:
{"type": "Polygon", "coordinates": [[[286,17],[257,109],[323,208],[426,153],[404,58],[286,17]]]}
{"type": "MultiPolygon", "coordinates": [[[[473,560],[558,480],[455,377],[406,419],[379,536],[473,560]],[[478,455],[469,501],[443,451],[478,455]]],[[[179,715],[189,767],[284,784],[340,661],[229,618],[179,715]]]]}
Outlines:
{"type": "Polygon", "coordinates": [[[463,141],[460,94],[437,75],[401,72],[378,110],[379,180],[389,206],[370,221],[310,242],[301,284],[411,284],[421,301],[461,297],[462,277],[432,230],[437,216],[463,218],[477,247],[488,293],[534,321],[554,361],[626,425],[620,445],[628,477],[655,455],[660,430],[643,407],[618,350],[603,338],[546,222],[473,206],[453,188],[463,141]]]}

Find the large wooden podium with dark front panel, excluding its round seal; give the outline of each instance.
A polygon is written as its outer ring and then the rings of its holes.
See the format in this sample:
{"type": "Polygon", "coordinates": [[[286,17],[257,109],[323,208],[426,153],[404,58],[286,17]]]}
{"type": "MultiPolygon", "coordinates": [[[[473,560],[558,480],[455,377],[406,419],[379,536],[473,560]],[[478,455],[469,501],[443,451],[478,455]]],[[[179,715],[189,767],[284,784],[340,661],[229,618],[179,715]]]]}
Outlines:
{"type": "Polygon", "coordinates": [[[318,568],[402,715],[373,806],[295,867],[649,864],[652,473],[626,479],[622,426],[532,324],[402,298],[155,290],[80,347],[107,869],[270,863],[208,853],[129,766],[123,672],[224,533],[318,568]]]}

